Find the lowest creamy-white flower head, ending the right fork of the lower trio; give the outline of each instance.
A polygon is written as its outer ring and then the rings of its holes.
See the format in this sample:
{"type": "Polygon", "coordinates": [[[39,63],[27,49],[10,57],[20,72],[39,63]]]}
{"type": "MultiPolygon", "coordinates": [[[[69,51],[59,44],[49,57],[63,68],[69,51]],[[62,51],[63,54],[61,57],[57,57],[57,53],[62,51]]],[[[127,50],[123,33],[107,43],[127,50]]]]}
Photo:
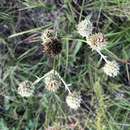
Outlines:
{"type": "Polygon", "coordinates": [[[70,93],[66,97],[66,103],[71,109],[77,110],[80,107],[81,96],[75,92],[70,93]]]}

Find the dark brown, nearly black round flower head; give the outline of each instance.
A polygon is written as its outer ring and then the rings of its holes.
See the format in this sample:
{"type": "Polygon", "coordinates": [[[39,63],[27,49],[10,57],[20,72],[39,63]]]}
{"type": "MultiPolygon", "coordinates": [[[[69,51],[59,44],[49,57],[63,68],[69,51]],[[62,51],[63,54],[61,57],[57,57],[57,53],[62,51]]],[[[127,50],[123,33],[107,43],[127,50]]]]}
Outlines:
{"type": "Polygon", "coordinates": [[[62,51],[62,43],[58,38],[50,38],[43,44],[43,50],[47,55],[56,56],[62,51]]]}

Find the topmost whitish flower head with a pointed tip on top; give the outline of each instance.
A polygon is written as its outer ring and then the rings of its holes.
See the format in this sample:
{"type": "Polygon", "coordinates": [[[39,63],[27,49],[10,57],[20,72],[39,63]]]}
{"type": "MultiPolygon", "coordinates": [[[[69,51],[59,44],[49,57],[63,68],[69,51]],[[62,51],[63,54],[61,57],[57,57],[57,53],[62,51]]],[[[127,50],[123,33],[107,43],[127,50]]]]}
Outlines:
{"type": "Polygon", "coordinates": [[[92,34],[92,30],[93,30],[93,25],[90,21],[90,16],[82,20],[77,25],[77,31],[83,37],[88,37],[90,34],[92,34]]]}

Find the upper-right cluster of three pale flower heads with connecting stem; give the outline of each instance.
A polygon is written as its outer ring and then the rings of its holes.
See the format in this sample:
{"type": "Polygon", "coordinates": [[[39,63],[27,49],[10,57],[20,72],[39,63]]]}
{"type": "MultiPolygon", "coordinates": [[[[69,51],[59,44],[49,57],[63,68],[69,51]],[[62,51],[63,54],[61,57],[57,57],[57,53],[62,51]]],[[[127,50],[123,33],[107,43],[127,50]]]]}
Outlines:
{"type": "Polygon", "coordinates": [[[102,69],[104,73],[110,77],[115,77],[119,74],[120,71],[119,65],[116,61],[109,61],[106,58],[106,56],[101,53],[101,50],[106,48],[108,42],[101,32],[93,34],[92,28],[93,28],[92,23],[89,18],[87,20],[86,19],[82,20],[78,24],[77,31],[81,36],[86,37],[86,42],[90,46],[90,48],[92,50],[95,50],[106,62],[102,69]]]}

